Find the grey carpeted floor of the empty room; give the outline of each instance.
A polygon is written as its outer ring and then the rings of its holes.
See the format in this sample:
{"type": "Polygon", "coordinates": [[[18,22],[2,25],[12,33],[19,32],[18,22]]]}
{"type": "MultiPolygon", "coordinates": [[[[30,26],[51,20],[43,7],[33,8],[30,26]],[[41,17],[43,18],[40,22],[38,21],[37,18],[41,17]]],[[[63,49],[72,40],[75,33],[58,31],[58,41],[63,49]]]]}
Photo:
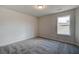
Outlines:
{"type": "Polygon", "coordinates": [[[0,54],[78,54],[79,47],[43,38],[0,47],[0,54]]]}

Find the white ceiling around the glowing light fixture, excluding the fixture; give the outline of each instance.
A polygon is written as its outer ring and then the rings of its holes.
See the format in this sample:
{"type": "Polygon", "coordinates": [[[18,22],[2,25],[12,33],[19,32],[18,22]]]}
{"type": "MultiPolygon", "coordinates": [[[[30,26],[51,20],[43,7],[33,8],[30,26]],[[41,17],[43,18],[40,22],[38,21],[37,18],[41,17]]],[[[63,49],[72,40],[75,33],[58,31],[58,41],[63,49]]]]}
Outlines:
{"type": "Polygon", "coordinates": [[[37,10],[33,8],[33,5],[2,5],[1,7],[33,16],[44,16],[48,14],[74,9],[77,8],[78,5],[47,5],[47,8],[43,10],[37,10]]]}

